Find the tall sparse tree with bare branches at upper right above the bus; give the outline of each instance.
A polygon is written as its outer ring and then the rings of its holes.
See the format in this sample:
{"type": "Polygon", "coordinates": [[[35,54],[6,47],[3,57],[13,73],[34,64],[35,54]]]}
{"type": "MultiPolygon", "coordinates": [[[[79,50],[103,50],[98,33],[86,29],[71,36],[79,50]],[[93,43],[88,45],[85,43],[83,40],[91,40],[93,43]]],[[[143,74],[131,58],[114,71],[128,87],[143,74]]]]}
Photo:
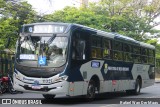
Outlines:
{"type": "Polygon", "coordinates": [[[146,39],[146,32],[157,32],[152,29],[155,26],[152,23],[160,13],[158,6],[157,0],[101,0],[99,4],[92,4],[90,9],[111,19],[110,23],[105,23],[107,29],[142,41],[146,39]],[[156,7],[155,12],[151,12],[154,17],[148,15],[146,9],[151,7],[156,7]]]}

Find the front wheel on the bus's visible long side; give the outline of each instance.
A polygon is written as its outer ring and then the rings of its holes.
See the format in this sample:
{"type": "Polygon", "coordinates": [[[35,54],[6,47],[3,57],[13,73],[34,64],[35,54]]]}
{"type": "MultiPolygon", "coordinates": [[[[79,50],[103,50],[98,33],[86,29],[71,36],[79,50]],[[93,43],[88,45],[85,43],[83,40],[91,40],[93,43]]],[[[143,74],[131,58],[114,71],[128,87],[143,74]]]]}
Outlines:
{"type": "Polygon", "coordinates": [[[95,90],[96,90],[95,82],[93,80],[90,80],[86,95],[86,99],[88,101],[93,100],[95,98],[95,90]]]}

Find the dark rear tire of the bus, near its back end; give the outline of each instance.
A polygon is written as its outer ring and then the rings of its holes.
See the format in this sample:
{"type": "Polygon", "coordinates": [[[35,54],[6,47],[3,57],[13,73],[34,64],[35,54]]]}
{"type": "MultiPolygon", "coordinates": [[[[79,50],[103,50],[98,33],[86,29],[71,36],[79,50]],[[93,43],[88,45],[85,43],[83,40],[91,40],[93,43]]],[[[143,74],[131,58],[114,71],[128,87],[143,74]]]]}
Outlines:
{"type": "Polygon", "coordinates": [[[129,95],[139,95],[141,92],[141,80],[139,78],[136,79],[135,89],[126,90],[126,93],[129,95]]]}

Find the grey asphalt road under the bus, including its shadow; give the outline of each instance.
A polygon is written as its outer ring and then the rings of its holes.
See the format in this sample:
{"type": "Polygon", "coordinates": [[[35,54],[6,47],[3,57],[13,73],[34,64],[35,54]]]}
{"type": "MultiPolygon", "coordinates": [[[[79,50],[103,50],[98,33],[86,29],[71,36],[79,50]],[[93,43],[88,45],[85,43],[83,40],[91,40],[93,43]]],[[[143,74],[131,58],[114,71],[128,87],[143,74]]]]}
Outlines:
{"type": "MultiPolygon", "coordinates": [[[[160,106],[160,83],[155,83],[153,86],[141,90],[141,94],[127,95],[125,92],[106,93],[99,95],[94,101],[86,102],[83,98],[68,98],[65,96],[57,96],[54,100],[45,100],[41,94],[23,93],[23,94],[9,94],[0,95],[0,98],[35,98],[41,100],[42,105],[0,105],[0,107],[159,107],[160,106]],[[157,102],[159,101],[159,104],[157,102]],[[152,104],[151,104],[152,103],[152,104]]],[[[2,99],[1,99],[2,100],[2,99]]]]}

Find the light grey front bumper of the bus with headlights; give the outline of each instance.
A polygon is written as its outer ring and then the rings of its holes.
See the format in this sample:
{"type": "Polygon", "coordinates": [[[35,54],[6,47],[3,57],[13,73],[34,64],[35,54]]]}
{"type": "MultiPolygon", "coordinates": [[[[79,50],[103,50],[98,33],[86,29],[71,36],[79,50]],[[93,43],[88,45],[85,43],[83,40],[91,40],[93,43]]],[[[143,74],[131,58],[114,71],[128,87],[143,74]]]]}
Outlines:
{"type": "MultiPolygon", "coordinates": [[[[39,78],[41,81],[41,78],[39,78]]],[[[53,84],[40,84],[38,85],[40,88],[33,88],[33,83],[26,83],[22,80],[14,78],[14,89],[23,92],[30,92],[30,93],[41,93],[41,94],[65,94],[68,95],[69,89],[69,82],[67,81],[59,81],[53,84]]]]}

